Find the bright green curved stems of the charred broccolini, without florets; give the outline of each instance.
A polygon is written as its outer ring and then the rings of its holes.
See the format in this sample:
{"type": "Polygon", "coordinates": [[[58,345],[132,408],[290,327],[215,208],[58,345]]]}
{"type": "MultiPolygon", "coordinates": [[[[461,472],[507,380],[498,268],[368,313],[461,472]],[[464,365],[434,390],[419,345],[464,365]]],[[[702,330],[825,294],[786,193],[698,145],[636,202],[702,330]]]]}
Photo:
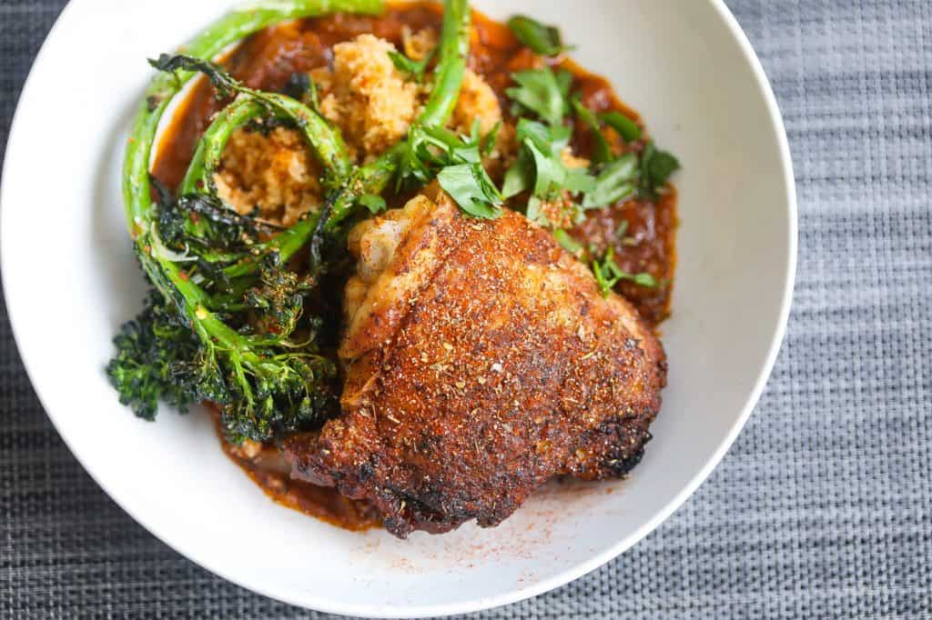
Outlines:
{"type": "MultiPolygon", "coordinates": [[[[382,8],[382,0],[283,0],[281,2],[267,0],[267,2],[260,2],[252,10],[234,12],[219,20],[190,44],[183,47],[181,51],[193,58],[211,60],[231,43],[280,20],[312,17],[336,10],[377,13],[382,8]]],[[[435,87],[431,98],[425,105],[424,112],[418,118],[418,123],[442,126],[453,114],[453,109],[459,98],[459,89],[462,86],[469,52],[471,17],[468,0],[446,0],[444,31],[440,43],[441,55],[435,72],[435,87]]],[[[133,238],[144,236],[149,232],[153,218],[148,168],[158,122],[171,99],[193,75],[193,72],[188,71],[158,74],[146,91],[146,100],[134,123],[124,166],[124,198],[127,206],[130,235],[133,238]]],[[[262,95],[267,97],[269,101],[273,101],[272,105],[279,107],[282,111],[287,110],[294,115],[304,115],[309,112],[300,102],[290,98],[271,93],[262,93],[262,95]],[[304,110],[299,110],[295,106],[301,106],[304,110]]],[[[246,101],[257,103],[254,100],[246,101]]],[[[231,133],[235,128],[241,127],[242,124],[254,118],[254,114],[258,114],[258,109],[253,105],[243,103],[241,107],[238,105],[233,110],[227,110],[224,115],[218,117],[212,127],[208,129],[204,141],[199,146],[198,154],[195,155],[192,166],[189,168],[182,184],[182,194],[195,190],[197,183],[204,181],[204,176],[207,170],[211,169],[212,162],[217,161],[223,153],[224,146],[231,133]]],[[[319,118],[317,115],[313,116],[319,118]]],[[[322,121],[322,123],[329,129],[325,122],[322,121]]],[[[309,137],[308,140],[310,140],[309,137]]],[[[315,142],[325,144],[327,141],[315,142]]],[[[318,143],[315,143],[315,147],[318,146],[318,143]]],[[[342,143],[340,143],[341,145],[342,143]]],[[[336,168],[337,178],[342,176],[345,180],[343,187],[336,190],[336,195],[332,198],[333,207],[324,227],[326,231],[333,231],[339,222],[342,222],[351,214],[360,196],[380,194],[384,191],[398,168],[398,160],[403,149],[404,144],[396,145],[389,152],[378,157],[372,164],[358,168],[356,172],[349,175],[345,173],[346,168],[341,165],[342,159],[340,157],[329,159],[330,162],[336,162],[333,165],[336,168]],[[343,175],[339,174],[341,171],[344,171],[343,175]]],[[[331,150],[329,153],[332,155],[334,151],[331,150]]],[[[324,153],[321,155],[324,162],[327,163],[328,156],[324,155],[324,153]]],[[[268,251],[278,251],[281,259],[287,261],[295,252],[304,247],[308,242],[308,238],[314,234],[317,228],[318,219],[316,217],[309,217],[302,222],[298,222],[280,235],[257,246],[255,248],[256,256],[266,254],[268,251]]],[[[222,321],[213,317],[207,310],[210,298],[203,290],[181,277],[177,266],[170,261],[159,261],[159,263],[166,269],[166,276],[169,276],[171,284],[185,297],[185,305],[191,306],[188,310],[195,312],[196,317],[207,315],[208,318],[213,319],[201,319],[201,323],[205,328],[211,327],[212,329],[209,330],[211,332],[214,329],[220,329],[220,327],[229,330],[222,321]]],[[[248,259],[228,267],[226,275],[230,277],[248,276],[254,273],[258,263],[258,258],[248,259]]],[[[171,295],[170,290],[162,290],[162,292],[171,295]]],[[[231,334],[225,334],[225,336],[236,336],[233,341],[241,339],[235,331],[229,331],[231,334]]],[[[208,334],[203,335],[207,336],[208,334]]],[[[216,336],[215,333],[213,335],[216,336]]],[[[228,339],[225,337],[223,340],[228,339]]],[[[233,342],[227,344],[232,345],[233,342]]]]}

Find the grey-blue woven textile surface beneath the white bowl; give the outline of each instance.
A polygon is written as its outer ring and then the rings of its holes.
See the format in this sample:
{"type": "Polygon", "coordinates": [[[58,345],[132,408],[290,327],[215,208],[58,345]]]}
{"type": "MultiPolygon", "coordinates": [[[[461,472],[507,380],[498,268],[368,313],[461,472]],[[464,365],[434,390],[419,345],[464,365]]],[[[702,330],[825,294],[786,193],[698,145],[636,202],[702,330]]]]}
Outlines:
{"type": "MultiPolygon", "coordinates": [[[[0,144],[64,4],[0,0],[0,144]]],[[[773,81],[799,185],[773,378],[656,532],[475,618],[932,618],[932,1],[729,5],[773,81]]],[[[124,514],[48,422],[0,315],[0,617],[323,617],[227,584],[124,514]]]]}

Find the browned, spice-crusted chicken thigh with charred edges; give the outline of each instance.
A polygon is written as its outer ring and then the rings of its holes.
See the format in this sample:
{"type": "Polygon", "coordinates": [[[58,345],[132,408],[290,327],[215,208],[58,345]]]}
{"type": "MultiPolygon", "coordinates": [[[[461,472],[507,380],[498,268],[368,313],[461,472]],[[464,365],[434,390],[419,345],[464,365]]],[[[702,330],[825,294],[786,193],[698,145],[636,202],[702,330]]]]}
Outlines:
{"type": "Polygon", "coordinates": [[[494,526],[549,478],[637,464],[663,348],[547,232],[440,193],[363,222],[350,250],[344,412],[287,441],[293,477],[372,502],[404,537],[494,526]]]}

